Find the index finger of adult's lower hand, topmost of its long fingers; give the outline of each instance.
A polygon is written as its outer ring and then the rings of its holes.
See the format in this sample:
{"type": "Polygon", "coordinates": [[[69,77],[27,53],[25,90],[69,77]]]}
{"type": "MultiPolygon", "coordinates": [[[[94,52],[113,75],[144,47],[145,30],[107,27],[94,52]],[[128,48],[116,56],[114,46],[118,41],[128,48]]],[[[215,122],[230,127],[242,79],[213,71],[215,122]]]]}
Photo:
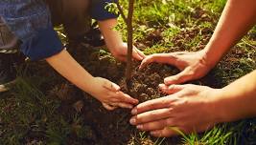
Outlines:
{"type": "Polygon", "coordinates": [[[156,98],[156,99],[152,99],[149,101],[146,101],[144,103],[141,103],[139,105],[137,105],[132,111],[131,114],[141,114],[144,112],[148,112],[151,110],[156,110],[156,109],[163,109],[163,108],[167,108],[170,106],[170,104],[173,101],[171,99],[168,99],[168,96],[164,96],[161,98],[156,98]]]}

